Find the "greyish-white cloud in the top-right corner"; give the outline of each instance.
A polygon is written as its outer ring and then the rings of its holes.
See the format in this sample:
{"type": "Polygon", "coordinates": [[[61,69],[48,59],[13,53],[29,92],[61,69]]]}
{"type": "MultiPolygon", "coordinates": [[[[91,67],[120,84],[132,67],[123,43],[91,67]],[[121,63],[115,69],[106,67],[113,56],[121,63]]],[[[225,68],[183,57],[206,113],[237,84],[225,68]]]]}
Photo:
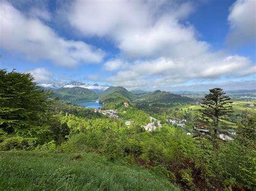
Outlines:
{"type": "Polygon", "coordinates": [[[228,22],[231,28],[227,38],[228,44],[238,46],[255,43],[256,1],[237,0],[230,8],[228,22]]]}

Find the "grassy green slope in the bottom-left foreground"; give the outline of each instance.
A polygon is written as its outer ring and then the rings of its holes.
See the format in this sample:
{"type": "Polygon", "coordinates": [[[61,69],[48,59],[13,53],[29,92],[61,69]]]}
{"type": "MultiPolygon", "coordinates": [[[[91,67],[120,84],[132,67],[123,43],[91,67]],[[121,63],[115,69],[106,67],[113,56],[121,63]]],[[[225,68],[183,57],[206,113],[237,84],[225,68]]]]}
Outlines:
{"type": "Polygon", "coordinates": [[[0,153],[1,190],[179,190],[139,166],[97,154],[9,151],[0,153]]]}

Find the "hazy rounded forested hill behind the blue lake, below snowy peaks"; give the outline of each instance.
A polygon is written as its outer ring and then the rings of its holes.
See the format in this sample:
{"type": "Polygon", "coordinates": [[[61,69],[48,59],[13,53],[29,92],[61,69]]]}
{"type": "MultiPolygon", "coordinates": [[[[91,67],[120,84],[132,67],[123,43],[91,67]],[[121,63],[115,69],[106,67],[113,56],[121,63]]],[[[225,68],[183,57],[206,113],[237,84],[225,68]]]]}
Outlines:
{"type": "Polygon", "coordinates": [[[53,97],[59,97],[62,100],[96,100],[98,98],[92,90],[81,87],[59,88],[53,91],[55,93],[53,97]]]}

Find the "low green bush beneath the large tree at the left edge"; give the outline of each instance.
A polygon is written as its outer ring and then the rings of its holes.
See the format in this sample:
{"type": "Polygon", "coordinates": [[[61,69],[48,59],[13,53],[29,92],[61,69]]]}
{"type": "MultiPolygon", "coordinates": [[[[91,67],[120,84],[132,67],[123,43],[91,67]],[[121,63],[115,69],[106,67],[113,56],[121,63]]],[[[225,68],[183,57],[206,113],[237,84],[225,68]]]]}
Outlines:
{"type": "Polygon", "coordinates": [[[0,143],[0,149],[2,151],[9,151],[13,149],[17,150],[32,150],[35,148],[36,140],[33,138],[24,138],[24,137],[10,137],[4,139],[2,143],[0,143]]]}

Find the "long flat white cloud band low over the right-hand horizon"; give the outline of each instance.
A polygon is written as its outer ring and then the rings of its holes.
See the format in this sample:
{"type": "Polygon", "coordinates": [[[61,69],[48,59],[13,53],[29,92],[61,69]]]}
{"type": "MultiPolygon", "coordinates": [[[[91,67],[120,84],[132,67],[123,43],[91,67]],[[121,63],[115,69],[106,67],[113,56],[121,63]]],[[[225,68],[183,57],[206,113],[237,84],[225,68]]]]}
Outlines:
{"type": "Polygon", "coordinates": [[[194,79],[242,77],[256,73],[255,65],[243,56],[206,54],[194,60],[159,58],[136,61],[107,79],[116,86],[131,89],[171,87],[194,79]]]}

